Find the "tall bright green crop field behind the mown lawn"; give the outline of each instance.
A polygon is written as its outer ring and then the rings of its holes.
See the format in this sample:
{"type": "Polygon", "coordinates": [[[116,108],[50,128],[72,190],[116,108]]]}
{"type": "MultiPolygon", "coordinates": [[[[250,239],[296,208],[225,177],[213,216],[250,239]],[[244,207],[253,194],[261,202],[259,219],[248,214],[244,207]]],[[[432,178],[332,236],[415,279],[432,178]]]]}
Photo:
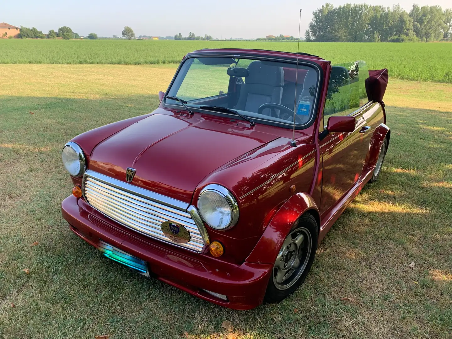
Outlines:
{"type": "MultiPolygon", "coordinates": [[[[225,47],[297,51],[295,42],[0,39],[0,63],[179,63],[193,50],[225,47]]],[[[452,82],[452,43],[303,42],[300,51],[333,63],[364,60],[369,69],[388,68],[392,78],[452,82]]]]}

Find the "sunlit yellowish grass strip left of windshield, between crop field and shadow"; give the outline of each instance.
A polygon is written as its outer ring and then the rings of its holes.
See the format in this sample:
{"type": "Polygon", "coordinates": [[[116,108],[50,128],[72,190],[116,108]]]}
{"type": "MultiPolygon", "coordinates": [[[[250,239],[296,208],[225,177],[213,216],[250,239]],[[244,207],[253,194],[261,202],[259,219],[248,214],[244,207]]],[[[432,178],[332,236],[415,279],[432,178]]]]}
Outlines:
{"type": "Polygon", "coordinates": [[[8,84],[8,96],[106,99],[158,94],[177,66],[0,64],[0,79],[8,84]]]}

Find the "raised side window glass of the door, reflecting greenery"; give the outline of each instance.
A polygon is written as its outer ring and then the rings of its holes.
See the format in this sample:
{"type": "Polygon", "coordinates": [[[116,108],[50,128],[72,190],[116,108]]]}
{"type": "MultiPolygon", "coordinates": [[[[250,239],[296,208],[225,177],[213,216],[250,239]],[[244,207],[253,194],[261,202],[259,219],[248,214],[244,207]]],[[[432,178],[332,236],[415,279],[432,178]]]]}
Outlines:
{"type": "Polygon", "coordinates": [[[333,115],[348,115],[365,105],[365,81],[369,70],[364,61],[354,61],[332,66],[326,96],[324,120],[333,115]]]}

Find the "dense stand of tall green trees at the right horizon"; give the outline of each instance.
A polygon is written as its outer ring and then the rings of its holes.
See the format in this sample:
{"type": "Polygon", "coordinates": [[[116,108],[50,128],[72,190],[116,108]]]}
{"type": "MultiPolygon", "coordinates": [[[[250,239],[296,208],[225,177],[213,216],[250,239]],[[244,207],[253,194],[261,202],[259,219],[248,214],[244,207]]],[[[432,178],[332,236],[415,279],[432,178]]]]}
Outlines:
{"type": "Polygon", "coordinates": [[[429,42],[452,41],[452,9],[414,4],[410,12],[367,4],[327,3],[312,12],[306,41],[429,42]]]}

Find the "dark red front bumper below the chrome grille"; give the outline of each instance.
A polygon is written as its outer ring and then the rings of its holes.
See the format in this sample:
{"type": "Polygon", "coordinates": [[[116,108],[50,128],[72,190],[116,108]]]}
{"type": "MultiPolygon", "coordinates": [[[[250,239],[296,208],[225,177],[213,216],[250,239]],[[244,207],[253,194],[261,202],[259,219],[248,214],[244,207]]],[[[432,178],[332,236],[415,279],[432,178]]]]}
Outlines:
{"type": "Polygon", "coordinates": [[[196,297],[236,310],[254,308],[264,299],[273,264],[229,264],[210,254],[165,244],[119,225],[72,195],[61,203],[61,212],[71,231],[89,244],[98,248],[99,240],[104,240],[145,260],[156,278],[196,297]],[[226,295],[228,300],[203,290],[226,295]]]}

